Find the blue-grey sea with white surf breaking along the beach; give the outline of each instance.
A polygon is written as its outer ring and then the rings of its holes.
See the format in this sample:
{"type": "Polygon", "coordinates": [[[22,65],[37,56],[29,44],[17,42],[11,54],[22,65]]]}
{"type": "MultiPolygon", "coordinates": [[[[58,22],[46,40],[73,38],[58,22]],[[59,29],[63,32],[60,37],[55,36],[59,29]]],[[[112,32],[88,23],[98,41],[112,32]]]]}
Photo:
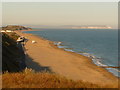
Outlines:
{"type": "MultiPolygon", "coordinates": [[[[118,30],[115,29],[37,29],[25,31],[54,41],[59,48],[90,57],[98,66],[118,66],[118,30]]],[[[108,68],[115,76],[116,68],[108,68]]]]}

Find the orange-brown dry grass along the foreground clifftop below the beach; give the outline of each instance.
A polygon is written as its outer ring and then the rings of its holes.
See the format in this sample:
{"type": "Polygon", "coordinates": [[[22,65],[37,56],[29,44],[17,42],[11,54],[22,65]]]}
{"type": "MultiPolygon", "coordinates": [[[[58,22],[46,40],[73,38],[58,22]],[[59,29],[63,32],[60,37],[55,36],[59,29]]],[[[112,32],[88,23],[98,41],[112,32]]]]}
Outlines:
{"type": "Polygon", "coordinates": [[[2,75],[2,81],[3,88],[109,88],[109,86],[73,81],[48,72],[35,73],[31,69],[19,73],[7,72],[2,75]]]}

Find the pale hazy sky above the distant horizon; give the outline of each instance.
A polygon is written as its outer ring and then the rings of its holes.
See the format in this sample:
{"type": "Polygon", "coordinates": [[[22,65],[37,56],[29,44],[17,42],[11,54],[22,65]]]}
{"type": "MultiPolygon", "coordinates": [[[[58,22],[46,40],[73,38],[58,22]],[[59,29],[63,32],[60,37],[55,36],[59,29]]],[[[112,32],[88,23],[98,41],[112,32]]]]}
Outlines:
{"type": "Polygon", "coordinates": [[[22,2],[3,3],[5,24],[109,25],[118,23],[117,2],[22,2]]]}

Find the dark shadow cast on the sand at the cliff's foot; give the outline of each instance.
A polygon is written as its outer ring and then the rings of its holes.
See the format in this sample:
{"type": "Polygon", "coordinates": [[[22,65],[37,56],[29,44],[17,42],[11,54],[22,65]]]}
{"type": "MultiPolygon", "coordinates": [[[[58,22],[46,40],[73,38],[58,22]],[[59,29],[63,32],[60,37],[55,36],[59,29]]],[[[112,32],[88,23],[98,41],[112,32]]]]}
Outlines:
{"type": "Polygon", "coordinates": [[[35,70],[36,72],[50,72],[53,73],[52,70],[50,69],[50,67],[48,66],[41,66],[40,64],[38,64],[37,62],[33,61],[33,59],[29,56],[26,55],[26,65],[27,68],[31,68],[33,70],[35,70]]]}

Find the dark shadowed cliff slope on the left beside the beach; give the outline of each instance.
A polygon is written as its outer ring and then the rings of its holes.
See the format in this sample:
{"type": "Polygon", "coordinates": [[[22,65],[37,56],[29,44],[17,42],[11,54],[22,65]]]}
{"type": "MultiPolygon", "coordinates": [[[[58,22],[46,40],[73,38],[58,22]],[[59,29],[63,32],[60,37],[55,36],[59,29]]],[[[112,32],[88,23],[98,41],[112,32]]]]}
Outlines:
{"type": "Polygon", "coordinates": [[[19,72],[26,68],[21,44],[16,43],[16,33],[2,33],[2,72],[19,72]]]}

